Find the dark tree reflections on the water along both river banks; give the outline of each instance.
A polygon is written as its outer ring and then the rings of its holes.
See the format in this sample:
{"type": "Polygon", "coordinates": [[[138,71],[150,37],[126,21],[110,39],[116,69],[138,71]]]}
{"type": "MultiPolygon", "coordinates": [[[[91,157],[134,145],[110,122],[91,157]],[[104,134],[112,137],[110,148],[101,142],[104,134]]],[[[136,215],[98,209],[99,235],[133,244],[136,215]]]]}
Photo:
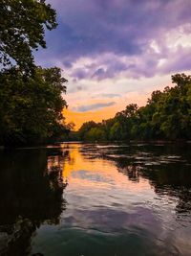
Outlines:
{"type": "Polygon", "coordinates": [[[42,223],[59,223],[66,209],[65,161],[70,167],[77,163],[80,170],[93,158],[113,162],[132,182],[147,179],[159,196],[176,198],[177,216],[191,212],[191,151],[146,146],[70,147],[1,151],[0,255],[29,255],[36,228],[42,223]],[[176,155],[179,157],[174,158],[176,155]]]}

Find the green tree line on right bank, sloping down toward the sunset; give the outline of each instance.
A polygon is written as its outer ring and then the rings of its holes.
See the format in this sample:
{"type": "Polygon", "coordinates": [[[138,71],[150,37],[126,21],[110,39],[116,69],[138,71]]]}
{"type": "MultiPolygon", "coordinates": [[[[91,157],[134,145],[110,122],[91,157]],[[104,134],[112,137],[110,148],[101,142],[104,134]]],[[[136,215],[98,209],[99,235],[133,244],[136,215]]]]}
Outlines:
{"type": "Polygon", "coordinates": [[[191,139],[191,76],[172,76],[173,87],[151,94],[145,106],[127,105],[114,118],[84,123],[71,139],[82,141],[191,139]]]}

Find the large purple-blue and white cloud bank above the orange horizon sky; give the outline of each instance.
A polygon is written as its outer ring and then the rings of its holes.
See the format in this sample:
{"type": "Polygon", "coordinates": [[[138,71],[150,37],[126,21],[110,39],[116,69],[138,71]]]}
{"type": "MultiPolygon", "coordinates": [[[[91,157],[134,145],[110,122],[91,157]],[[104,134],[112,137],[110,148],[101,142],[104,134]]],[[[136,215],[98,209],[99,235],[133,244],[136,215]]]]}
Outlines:
{"type": "MultiPolygon", "coordinates": [[[[186,41],[191,48],[191,38],[185,36],[191,35],[191,1],[49,2],[56,9],[59,25],[46,34],[48,49],[39,51],[37,60],[63,66],[74,81],[102,81],[121,73],[135,79],[165,74],[171,72],[171,64],[161,68],[161,59],[178,59],[179,45],[185,47],[186,41]],[[76,67],[81,58],[92,62],[76,67]]],[[[180,66],[175,63],[180,71],[189,67],[182,62],[180,66]]]]}

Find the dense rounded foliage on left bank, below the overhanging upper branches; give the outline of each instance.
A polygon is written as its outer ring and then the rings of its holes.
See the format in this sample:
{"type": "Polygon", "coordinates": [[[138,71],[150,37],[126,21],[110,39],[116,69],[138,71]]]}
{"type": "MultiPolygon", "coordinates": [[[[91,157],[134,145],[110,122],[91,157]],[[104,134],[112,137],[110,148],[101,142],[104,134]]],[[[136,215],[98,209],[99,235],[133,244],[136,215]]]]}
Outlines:
{"type": "Polygon", "coordinates": [[[56,67],[38,67],[29,78],[16,68],[0,73],[1,143],[43,143],[63,132],[65,82],[56,67]]]}

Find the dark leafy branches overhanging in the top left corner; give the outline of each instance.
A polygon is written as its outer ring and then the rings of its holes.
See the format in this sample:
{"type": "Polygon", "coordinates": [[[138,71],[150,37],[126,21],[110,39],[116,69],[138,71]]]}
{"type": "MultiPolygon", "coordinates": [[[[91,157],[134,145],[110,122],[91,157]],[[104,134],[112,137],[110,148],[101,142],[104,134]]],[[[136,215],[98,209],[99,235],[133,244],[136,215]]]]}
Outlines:
{"type": "Polygon", "coordinates": [[[55,15],[45,0],[0,0],[0,63],[32,72],[32,50],[46,48],[44,28],[56,27],[55,15]]]}

